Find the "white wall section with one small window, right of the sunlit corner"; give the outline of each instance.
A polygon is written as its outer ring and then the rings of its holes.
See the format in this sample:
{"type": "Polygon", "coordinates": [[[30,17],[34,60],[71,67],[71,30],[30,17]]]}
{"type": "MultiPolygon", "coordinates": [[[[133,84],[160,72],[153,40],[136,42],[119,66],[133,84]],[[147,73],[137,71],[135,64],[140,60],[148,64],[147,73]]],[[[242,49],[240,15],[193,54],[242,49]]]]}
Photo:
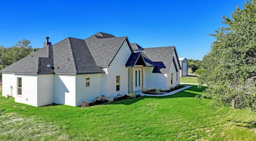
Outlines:
{"type": "Polygon", "coordinates": [[[104,74],[80,74],[76,75],[76,106],[82,102],[91,102],[92,99],[102,94],[102,76],[104,74]],[[86,87],[86,78],[90,78],[90,86],[86,87]]]}

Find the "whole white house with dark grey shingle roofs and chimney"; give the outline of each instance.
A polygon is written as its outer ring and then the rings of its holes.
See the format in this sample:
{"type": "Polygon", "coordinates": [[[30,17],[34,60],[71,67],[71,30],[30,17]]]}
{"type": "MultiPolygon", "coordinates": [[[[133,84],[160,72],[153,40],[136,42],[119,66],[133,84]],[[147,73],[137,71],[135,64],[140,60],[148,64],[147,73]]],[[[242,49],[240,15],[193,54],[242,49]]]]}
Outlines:
{"type": "Polygon", "coordinates": [[[142,48],[127,37],[99,32],[68,37],[0,70],[2,96],[32,106],[79,106],[105,94],[116,96],[180,84],[175,47],[142,48]]]}

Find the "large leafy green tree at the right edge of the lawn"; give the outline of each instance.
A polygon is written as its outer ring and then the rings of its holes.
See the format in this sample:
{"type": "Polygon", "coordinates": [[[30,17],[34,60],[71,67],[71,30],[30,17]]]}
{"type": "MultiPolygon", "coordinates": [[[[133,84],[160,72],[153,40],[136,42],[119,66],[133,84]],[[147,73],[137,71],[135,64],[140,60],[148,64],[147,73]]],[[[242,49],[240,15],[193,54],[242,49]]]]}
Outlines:
{"type": "Polygon", "coordinates": [[[205,73],[198,81],[207,84],[212,106],[232,103],[233,108],[256,111],[256,0],[223,16],[226,26],[211,34],[216,38],[202,62],[205,73]]]}

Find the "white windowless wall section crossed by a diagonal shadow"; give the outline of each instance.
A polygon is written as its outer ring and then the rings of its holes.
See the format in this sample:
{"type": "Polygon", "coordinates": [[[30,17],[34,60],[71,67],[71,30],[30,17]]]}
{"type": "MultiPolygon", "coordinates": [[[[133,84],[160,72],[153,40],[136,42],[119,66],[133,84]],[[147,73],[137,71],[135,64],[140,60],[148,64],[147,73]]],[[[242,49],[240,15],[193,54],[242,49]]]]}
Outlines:
{"type": "Polygon", "coordinates": [[[76,76],[55,74],[54,103],[76,106],[76,76]]]}

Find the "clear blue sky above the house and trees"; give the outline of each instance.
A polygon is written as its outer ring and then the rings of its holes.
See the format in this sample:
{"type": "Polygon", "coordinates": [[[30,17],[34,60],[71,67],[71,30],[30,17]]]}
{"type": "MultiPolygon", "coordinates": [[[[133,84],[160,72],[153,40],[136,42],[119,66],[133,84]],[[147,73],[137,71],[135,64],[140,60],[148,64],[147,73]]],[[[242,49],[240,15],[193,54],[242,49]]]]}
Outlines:
{"type": "Polygon", "coordinates": [[[215,40],[208,33],[224,26],[244,0],[2,0],[0,45],[28,39],[43,47],[66,37],[86,39],[98,32],[127,36],[141,47],[176,46],[178,57],[202,60],[215,40]]]}

